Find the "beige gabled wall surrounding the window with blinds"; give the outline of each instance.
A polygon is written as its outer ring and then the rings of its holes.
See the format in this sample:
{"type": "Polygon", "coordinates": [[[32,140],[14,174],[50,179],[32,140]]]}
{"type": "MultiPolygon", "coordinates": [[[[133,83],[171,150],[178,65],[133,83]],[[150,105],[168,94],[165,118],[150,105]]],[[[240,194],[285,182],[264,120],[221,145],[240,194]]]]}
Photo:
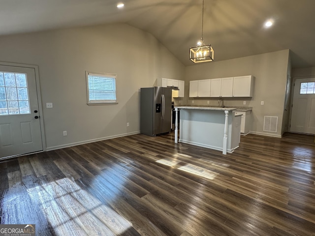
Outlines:
{"type": "Polygon", "coordinates": [[[185,72],[155,37],[126,24],[1,36],[0,61],[38,65],[47,149],[139,132],[139,89],[185,72]],[[87,105],[85,71],[117,74],[118,105],[87,105]]]}

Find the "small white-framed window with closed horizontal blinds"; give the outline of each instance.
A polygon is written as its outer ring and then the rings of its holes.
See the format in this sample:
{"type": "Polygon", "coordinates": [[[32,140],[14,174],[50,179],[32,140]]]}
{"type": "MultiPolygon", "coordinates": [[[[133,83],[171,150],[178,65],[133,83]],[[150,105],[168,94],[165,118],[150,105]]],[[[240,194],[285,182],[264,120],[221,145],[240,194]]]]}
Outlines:
{"type": "Polygon", "coordinates": [[[117,103],[117,75],[86,72],[86,76],[89,105],[117,103]]]}

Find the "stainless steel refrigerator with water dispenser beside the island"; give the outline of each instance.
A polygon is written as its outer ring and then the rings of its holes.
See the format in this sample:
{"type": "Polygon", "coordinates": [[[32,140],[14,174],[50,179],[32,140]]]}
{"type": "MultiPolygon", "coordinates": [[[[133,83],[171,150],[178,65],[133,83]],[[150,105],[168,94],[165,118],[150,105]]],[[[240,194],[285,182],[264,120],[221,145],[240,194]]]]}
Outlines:
{"type": "Polygon", "coordinates": [[[140,132],[157,136],[171,132],[172,89],[140,89],[140,132]]]}

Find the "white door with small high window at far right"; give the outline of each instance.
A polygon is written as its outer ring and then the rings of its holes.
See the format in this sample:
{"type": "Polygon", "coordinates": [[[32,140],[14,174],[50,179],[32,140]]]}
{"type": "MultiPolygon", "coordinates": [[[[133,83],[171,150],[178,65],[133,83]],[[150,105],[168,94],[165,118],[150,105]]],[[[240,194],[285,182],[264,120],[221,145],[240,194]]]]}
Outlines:
{"type": "Polygon", "coordinates": [[[315,78],[294,83],[291,132],[315,134],[315,78]]]}

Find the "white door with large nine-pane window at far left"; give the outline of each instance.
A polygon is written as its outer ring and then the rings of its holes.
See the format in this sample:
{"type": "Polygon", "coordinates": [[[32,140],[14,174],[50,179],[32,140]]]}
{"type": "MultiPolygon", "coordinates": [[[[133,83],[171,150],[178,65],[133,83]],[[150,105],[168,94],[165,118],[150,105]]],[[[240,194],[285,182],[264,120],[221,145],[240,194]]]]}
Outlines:
{"type": "Polygon", "coordinates": [[[0,65],[0,159],[43,150],[34,68],[0,65]]]}

